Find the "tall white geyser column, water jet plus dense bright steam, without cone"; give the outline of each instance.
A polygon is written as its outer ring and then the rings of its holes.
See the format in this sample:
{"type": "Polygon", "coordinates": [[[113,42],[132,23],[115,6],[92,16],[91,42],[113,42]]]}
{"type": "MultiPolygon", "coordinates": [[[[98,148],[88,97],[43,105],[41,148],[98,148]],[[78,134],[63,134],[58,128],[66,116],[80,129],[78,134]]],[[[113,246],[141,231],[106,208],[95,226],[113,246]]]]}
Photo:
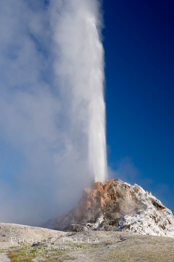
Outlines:
{"type": "Polygon", "coordinates": [[[107,157],[100,1],[52,0],[50,5],[55,74],[69,138],[79,154],[87,153],[91,177],[103,182],[107,157]]]}

